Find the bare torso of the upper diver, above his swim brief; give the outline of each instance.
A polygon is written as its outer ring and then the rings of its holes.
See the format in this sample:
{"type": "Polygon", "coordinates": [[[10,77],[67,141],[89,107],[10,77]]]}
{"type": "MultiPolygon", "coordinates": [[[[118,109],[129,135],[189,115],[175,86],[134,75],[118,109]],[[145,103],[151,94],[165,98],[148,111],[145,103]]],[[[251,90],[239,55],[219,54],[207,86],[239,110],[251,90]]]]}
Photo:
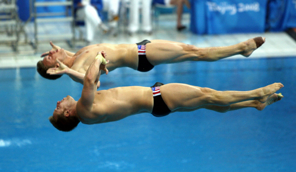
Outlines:
{"type": "Polygon", "coordinates": [[[70,68],[85,74],[100,51],[106,52],[106,60],[109,60],[107,66],[109,71],[118,67],[137,69],[138,55],[136,44],[95,44],[84,47],[73,56],[76,59],[70,68]]]}

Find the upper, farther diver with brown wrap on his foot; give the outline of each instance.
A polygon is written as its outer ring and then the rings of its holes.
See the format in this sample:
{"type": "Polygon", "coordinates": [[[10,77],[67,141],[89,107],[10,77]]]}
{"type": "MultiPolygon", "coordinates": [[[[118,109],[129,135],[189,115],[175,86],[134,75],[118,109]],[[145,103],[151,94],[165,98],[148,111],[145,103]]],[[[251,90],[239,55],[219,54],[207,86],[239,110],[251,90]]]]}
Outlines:
{"type": "MultiPolygon", "coordinates": [[[[37,71],[47,79],[57,79],[62,74],[83,84],[83,78],[97,52],[105,51],[109,60],[108,69],[129,67],[141,72],[150,71],[156,65],[185,61],[217,61],[233,55],[249,57],[265,42],[256,37],[226,47],[198,48],[184,43],[165,40],[144,40],[137,44],[95,44],[71,53],[50,42],[52,50],[43,53],[37,63],[37,71]]],[[[102,71],[104,73],[104,71],[102,71]]]]}

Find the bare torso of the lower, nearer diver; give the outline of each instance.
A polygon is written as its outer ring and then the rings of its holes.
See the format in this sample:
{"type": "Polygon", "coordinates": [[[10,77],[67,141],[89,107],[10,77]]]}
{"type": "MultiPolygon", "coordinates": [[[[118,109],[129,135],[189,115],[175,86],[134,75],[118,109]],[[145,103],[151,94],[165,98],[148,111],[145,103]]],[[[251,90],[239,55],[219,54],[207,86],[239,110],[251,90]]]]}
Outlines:
{"type": "Polygon", "coordinates": [[[94,124],[116,121],[138,113],[151,113],[153,94],[150,87],[117,87],[95,93],[90,114],[77,113],[82,123],[94,124]]]}

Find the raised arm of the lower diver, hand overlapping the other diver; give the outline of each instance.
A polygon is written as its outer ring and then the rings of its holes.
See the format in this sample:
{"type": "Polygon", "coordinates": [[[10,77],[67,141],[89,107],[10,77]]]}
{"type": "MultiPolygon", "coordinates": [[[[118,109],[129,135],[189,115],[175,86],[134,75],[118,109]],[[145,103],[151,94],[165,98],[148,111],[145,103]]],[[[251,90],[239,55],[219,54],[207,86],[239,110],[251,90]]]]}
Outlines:
{"type": "Polygon", "coordinates": [[[108,74],[106,64],[109,61],[106,61],[104,57],[105,52],[99,52],[84,76],[82,94],[78,103],[87,111],[91,111],[92,108],[95,91],[97,90],[97,84],[101,74],[100,70],[104,70],[108,74]]]}

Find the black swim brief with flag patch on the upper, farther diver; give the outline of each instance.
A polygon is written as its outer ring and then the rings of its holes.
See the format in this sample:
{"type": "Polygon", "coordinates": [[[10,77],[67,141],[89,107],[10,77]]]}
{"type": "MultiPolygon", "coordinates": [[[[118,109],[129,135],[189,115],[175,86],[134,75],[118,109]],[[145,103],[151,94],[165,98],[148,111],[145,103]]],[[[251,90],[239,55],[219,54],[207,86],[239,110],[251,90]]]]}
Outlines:
{"type": "Polygon", "coordinates": [[[154,68],[154,66],[147,60],[146,57],[146,44],[151,43],[148,40],[144,40],[140,43],[136,43],[138,47],[139,63],[137,70],[140,72],[147,72],[154,68]]]}

